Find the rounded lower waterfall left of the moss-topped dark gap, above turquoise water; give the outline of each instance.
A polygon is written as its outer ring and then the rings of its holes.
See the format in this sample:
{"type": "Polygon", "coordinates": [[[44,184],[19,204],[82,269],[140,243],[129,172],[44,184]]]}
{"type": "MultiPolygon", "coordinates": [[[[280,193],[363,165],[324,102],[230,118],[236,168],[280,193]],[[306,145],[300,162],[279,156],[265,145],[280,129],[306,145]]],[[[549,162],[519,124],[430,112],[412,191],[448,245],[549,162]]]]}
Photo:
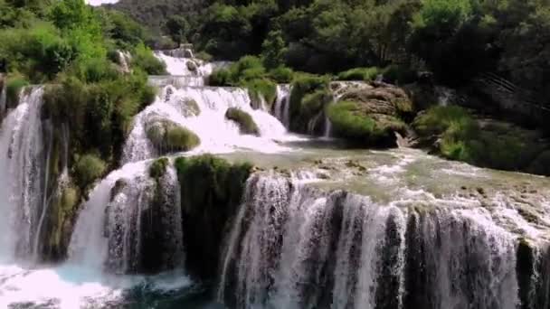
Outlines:
{"type": "Polygon", "coordinates": [[[183,263],[179,183],[173,167],[159,180],[148,164],[126,164],[90,193],[70,244],[70,262],[111,273],[158,272],[183,263]]]}

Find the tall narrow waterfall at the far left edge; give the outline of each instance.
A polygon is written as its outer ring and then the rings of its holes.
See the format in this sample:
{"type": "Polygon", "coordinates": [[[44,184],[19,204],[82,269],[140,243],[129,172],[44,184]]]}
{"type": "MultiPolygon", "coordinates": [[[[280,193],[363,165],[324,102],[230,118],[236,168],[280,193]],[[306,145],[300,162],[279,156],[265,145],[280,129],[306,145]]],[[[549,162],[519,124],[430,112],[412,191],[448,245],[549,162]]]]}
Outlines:
{"type": "Polygon", "coordinates": [[[25,89],[0,130],[0,258],[28,257],[43,205],[42,88],[25,89]]]}

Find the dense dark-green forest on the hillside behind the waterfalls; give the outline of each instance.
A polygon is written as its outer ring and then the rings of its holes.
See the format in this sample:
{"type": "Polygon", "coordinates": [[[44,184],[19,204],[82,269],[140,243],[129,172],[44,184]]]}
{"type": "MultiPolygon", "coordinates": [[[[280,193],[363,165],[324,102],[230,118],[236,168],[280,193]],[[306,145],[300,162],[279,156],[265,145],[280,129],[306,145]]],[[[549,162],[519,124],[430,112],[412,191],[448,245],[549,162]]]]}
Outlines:
{"type": "Polygon", "coordinates": [[[122,0],[152,28],[215,58],[262,55],[270,65],[337,73],[399,65],[457,85],[496,72],[550,94],[547,0],[122,0]]]}

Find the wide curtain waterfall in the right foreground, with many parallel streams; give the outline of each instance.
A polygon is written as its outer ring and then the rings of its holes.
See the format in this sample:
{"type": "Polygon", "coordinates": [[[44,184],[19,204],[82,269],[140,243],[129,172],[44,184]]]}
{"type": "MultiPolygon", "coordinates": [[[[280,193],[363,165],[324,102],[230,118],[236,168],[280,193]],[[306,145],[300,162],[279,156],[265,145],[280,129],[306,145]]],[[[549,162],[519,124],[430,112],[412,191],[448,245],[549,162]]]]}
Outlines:
{"type": "Polygon", "coordinates": [[[218,297],[236,308],[515,309],[527,290],[547,304],[535,269],[548,264],[532,262],[520,286],[517,236],[476,205],[378,203],[256,174],[221,259],[218,297]]]}

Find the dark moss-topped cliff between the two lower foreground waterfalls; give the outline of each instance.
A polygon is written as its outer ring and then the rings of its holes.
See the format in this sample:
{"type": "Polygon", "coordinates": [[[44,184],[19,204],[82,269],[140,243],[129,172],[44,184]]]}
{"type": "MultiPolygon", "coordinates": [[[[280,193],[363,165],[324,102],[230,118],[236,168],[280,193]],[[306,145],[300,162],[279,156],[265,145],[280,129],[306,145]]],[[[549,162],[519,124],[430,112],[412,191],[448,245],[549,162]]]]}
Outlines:
{"type": "Polygon", "coordinates": [[[181,188],[185,263],[195,275],[213,279],[224,230],[242,201],[251,164],[230,164],[213,155],[180,157],[175,169],[181,188]]]}

